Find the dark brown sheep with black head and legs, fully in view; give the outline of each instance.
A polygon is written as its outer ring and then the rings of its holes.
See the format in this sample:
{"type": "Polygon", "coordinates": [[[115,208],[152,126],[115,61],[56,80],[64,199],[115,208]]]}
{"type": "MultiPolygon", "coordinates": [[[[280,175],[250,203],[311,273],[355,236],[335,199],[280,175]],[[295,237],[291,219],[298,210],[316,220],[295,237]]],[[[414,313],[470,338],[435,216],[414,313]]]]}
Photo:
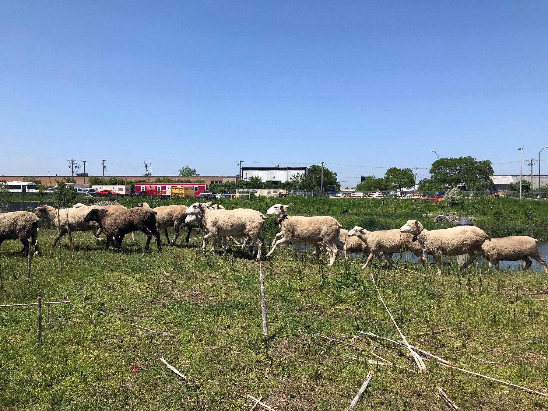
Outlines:
{"type": "MultiPolygon", "coordinates": [[[[84,221],[88,223],[90,221],[97,222],[105,235],[113,239],[114,246],[118,249],[130,251],[129,248],[122,246],[122,240],[127,233],[139,230],[144,232],[147,237],[145,250],[149,249],[150,240],[154,235],[158,251],[162,251],[160,235],[156,231],[156,214],[154,210],[144,207],[120,210],[112,214],[105,208],[94,208],[84,217],[84,221]]],[[[106,248],[109,248],[108,241],[106,248]]]]}

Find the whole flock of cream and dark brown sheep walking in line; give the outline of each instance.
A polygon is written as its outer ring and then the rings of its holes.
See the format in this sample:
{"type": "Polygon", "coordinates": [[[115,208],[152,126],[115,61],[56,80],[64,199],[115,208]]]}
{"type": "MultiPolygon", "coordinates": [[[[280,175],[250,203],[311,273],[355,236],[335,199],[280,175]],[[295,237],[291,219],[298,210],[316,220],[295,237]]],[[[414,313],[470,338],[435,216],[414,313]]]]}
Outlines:
{"type": "MultiPolygon", "coordinates": [[[[339,250],[347,253],[363,253],[367,256],[367,267],[373,257],[384,258],[390,267],[392,253],[412,252],[426,264],[426,255],[431,255],[438,266],[438,274],[441,274],[443,255],[469,254],[469,259],[461,266],[464,270],[478,256],[484,255],[489,261],[489,267],[498,266],[500,260],[526,262],[525,270],[532,264],[530,258],[543,265],[548,272],[545,260],[540,258],[536,239],[527,236],[513,236],[504,238],[490,238],[483,230],[475,226],[460,226],[450,229],[426,230],[416,220],[409,220],[400,229],[384,231],[368,231],[362,227],[354,227],[347,231],[333,217],[330,216],[290,216],[287,213],[289,206],[275,204],[267,210],[267,216],[277,218],[275,224],[280,231],[272,241],[270,257],[276,247],[282,243],[295,243],[298,258],[301,257],[301,244],[314,244],[316,258],[319,258],[322,250],[329,256],[329,265],[335,264],[335,258],[339,250]]],[[[55,209],[50,206],[39,206],[34,213],[12,212],[0,214],[0,245],[4,239],[19,239],[23,244],[21,255],[27,255],[29,247],[35,247],[38,253],[38,229],[39,217],[47,217],[58,228],[59,233],[55,237],[53,246],[59,238],[68,233],[70,249],[74,249],[71,231],[92,231],[97,241],[101,232],[106,236],[106,248],[112,244],[118,249],[129,250],[122,246],[125,235],[132,233],[136,242],[135,232],[144,232],[147,236],[145,249],[149,249],[152,236],[155,237],[158,251],[162,250],[160,235],[157,229],[163,229],[169,246],[174,246],[181,225],[187,228],[186,242],[189,242],[190,232],[196,224],[206,231],[203,238],[202,249],[206,252],[208,239],[213,237],[214,249],[216,244],[222,246],[226,254],[226,239],[242,237],[242,248],[248,242],[256,246],[256,259],[261,257],[261,248],[264,238],[260,236],[262,226],[268,218],[261,212],[249,208],[237,208],[226,210],[220,204],[194,203],[190,207],[173,205],[150,208],[146,203],[139,203],[134,208],[124,206],[85,206],[76,204],[71,208],[55,209]],[[175,230],[172,241],[169,240],[168,229],[175,230]]]]}

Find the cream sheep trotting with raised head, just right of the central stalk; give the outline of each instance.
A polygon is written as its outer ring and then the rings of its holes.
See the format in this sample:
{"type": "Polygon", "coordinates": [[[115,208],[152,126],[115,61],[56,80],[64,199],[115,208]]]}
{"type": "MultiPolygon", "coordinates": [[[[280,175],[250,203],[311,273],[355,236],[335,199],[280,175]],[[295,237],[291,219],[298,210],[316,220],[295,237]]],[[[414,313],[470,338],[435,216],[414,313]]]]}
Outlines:
{"type": "MultiPolygon", "coordinates": [[[[273,240],[273,246],[270,252],[266,254],[270,257],[279,244],[285,242],[312,243],[319,244],[327,249],[329,253],[329,265],[335,264],[337,248],[335,244],[344,247],[344,243],[339,239],[340,227],[342,225],[335,218],[330,216],[302,217],[289,216],[286,209],[289,206],[275,204],[266,212],[269,216],[277,216],[275,224],[279,225],[280,231],[273,240]],[[276,239],[277,237],[282,237],[276,239]]],[[[300,247],[298,248],[298,251],[300,247]]],[[[316,246],[316,257],[319,257],[319,249],[316,246]]],[[[300,258],[300,255],[299,255],[300,258]]]]}

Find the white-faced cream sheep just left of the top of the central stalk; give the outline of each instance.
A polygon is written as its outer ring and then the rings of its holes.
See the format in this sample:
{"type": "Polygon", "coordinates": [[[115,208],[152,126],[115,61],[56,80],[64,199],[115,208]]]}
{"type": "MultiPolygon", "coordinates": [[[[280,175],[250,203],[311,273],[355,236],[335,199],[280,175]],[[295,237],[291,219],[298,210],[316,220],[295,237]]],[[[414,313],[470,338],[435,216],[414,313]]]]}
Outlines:
{"type": "Polygon", "coordinates": [[[226,254],[227,236],[247,236],[258,247],[256,260],[261,258],[262,239],[259,237],[259,232],[264,224],[264,218],[258,214],[238,210],[211,210],[206,203],[192,204],[186,209],[186,214],[202,216],[203,224],[208,231],[202,244],[204,252],[206,252],[206,241],[210,237],[224,237],[222,249],[226,254]]]}

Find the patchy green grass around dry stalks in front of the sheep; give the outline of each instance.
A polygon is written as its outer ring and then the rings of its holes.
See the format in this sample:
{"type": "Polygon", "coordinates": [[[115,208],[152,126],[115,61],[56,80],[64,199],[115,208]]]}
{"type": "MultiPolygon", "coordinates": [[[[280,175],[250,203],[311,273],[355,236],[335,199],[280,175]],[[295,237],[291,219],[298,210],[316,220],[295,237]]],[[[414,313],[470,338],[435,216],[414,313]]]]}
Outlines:
{"type": "MultiPolygon", "coordinates": [[[[259,207],[253,208],[263,211],[273,203],[254,201],[259,207]]],[[[294,214],[335,215],[345,227],[394,228],[407,220],[404,214],[419,218],[430,212],[403,213],[398,203],[373,210],[368,201],[348,206],[289,201],[294,214]]],[[[265,224],[267,238],[275,232],[271,220],[265,224]]],[[[388,270],[374,261],[361,270],[361,259],[338,259],[328,267],[309,254],[297,262],[293,248],[280,248],[272,260],[262,261],[266,356],[259,265],[247,250],[204,255],[201,240],[186,244],[183,236],[174,248],[165,247],[162,238],[162,253],[155,247],[144,252],[145,236],[139,233],[138,244],[129,236],[124,240],[133,253],[118,254],[96,246],[89,232],[75,233],[74,252],[63,238],[60,273],[58,250],[50,249],[54,236],[51,229],[39,232],[42,253],[32,260],[30,280],[20,243],[5,241],[0,250],[0,304],[35,302],[42,290],[44,301],[66,298],[75,305],[53,305],[49,327],[44,306],[43,346],[36,344],[35,306],[0,309],[1,409],[249,410],[251,394],[276,410],[342,410],[369,370],[375,374],[359,410],[448,409],[436,386],[460,409],[548,409],[548,398],[436,362],[425,362],[426,374],[414,373],[407,350],[359,333],[399,339],[369,278],[373,274],[410,344],[461,368],[543,391],[548,384],[545,273],[477,266],[459,273],[444,267],[439,277],[407,262],[388,270]],[[175,336],[141,333],[132,324],[175,336]],[[461,328],[431,333],[451,327],[461,328]],[[362,350],[317,334],[356,336],[345,341],[362,350]],[[393,366],[367,361],[380,361],[371,353],[376,344],[374,353],[393,366]],[[170,371],[162,356],[188,380],[170,371]]]]}

